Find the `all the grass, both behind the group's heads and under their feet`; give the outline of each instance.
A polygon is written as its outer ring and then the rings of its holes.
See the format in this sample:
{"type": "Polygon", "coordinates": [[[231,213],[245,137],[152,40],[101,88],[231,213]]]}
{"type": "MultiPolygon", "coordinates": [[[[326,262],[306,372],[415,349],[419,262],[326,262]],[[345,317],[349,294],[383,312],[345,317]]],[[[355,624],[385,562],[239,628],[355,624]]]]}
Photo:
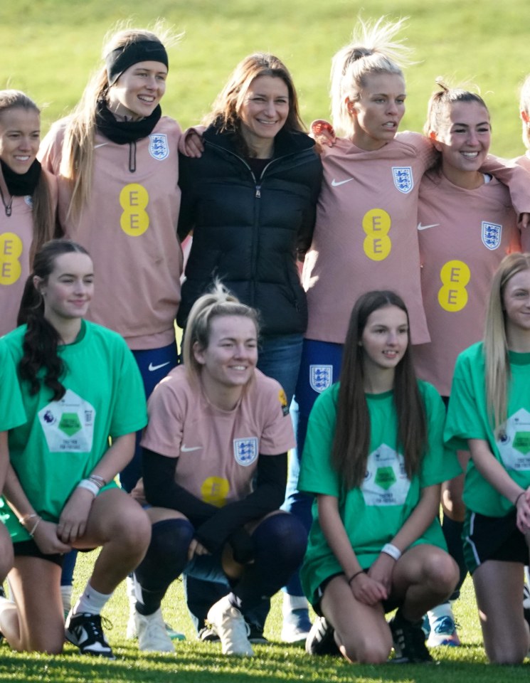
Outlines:
{"type": "MultiPolygon", "coordinates": [[[[68,113],[98,64],[102,38],[115,21],[135,16],[144,26],[157,17],[186,31],[170,50],[164,112],[183,127],[196,123],[230,70],[246,54],[271,51],[292,70],[306,122],[329,115],[329,64],[348,41],[356,16],[408,16],[403,36],[417,63],[406,70],[408,111],[402,128],[420,130],[427,100],[438,75],[459,84],[479,85],[492,112],[492,151],[507,157],[523,152],[518,88],[530,71],[528,0],[4,0],[0,4],[0,87],[26,90],[43,110],[43,132],[68,113]]],[[[90,573],[90,556],[80,558],[76,591],[90,573]]],[[[46,586],[43,586],[46,590],[46,586]]],[[[528,677],[528,668],[485,663],[472,586],[465,584],[457,603],[464,646],[436,653],[432,667],[351,667],[332,658],[310,658],[300,647],[280,644],[280,598],[275,598],[266,634],[268,647],[256,647],[253,660],[223,657],[218,645],[203,645],[192,635],[180,583],[164,605],[166,618],[189,640],[175,656],[139,655],[124,640],[127,601],[120,586],[105,610],[117,662],[78,657],[67,645],[60,657],[20,655],[0,647],[0,682],[166,682],[269,683],[272,681],[376,683],[499,683],[528,677]]]]}

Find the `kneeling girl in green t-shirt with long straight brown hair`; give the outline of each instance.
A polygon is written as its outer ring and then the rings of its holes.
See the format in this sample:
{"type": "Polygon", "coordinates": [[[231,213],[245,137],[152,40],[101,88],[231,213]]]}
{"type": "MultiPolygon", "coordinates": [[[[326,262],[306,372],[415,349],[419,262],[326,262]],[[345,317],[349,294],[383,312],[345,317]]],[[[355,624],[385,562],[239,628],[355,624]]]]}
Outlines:
{"type": "Polygon", "coordinates": [[[306,649],[347,660],[428,662],[425,612],[457,581],[437,519],[440,483],[460,471],[445,456],[445,410],[418,382],[408,312],[393,292],[368,292],[351,313],[339,386],[309,417],[299,487],[316,494],[302,566],[321,616],[306,649]],[[398,607],[388,624],[385,613],[398,607]]]}

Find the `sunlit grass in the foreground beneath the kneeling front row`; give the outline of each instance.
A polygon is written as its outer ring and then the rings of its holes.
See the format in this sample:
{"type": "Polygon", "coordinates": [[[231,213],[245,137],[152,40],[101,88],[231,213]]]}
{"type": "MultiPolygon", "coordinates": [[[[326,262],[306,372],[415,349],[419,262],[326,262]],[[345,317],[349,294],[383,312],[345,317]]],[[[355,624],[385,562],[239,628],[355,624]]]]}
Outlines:
{"type": "MultiPolygon", "coordinates": [[[[94,554],[80,554],[75,573],[74,595],[83,590],[90,575],[94,554]]],[[[46,590],[46,587],[43,587],[46,590]]],[[[308,657],[300,646],[280,642],[281,602],[277,595],[267,620],[265,635],[270,645],[256,645],[255,657],[225,657],[216,644],[198,642],[186,613],[182,586],[176,581],[163,605],[164,618],[186,633],[188,640],[176,642],[175,655],[140,653],[134,641],[125,640],[128,604],[124,584],[105,607],[112,622],[107,630],[117,661],[90,659],[65,645],[61,656],[26,655],[0,646],[0,683],[510,683],[529,675],[523,667],[488,665],[482,648],[472,584],[466,581],[455,606],[462,647],[433,651],[436,665],[349,665],[335,657],[308,657]]]]}

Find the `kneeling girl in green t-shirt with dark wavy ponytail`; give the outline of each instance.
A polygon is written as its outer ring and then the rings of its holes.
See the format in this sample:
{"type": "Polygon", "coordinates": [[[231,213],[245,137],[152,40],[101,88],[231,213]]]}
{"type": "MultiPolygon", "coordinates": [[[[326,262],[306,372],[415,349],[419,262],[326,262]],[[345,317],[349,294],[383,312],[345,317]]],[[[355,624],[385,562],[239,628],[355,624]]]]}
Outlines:
{"type": "Polygon", "coordinates": [[[19,322],[2,339],[16,364],[27,421],[9,429],[4,504],[14,541],[0,631],[19,651],[114,658],[100,612],[141,561],[147,514],[113,480],[132,458],[147,423],[142,380],[120,335],[85,322],[94,290],[92,260],[70,240],[35,256],[19,322]],[[109,437],[112,445],[109,445],[109,437]],[[63,554],[102,546],[66,625],[60,595],[63,554]]]}

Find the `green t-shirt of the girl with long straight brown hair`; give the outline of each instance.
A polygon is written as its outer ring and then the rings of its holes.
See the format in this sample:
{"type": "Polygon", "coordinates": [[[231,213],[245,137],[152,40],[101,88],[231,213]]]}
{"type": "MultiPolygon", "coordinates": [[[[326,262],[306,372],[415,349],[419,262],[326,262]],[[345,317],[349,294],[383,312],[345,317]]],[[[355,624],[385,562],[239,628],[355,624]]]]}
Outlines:
{"type": "MultiPolygon", "coordinates": [[[[331,462],[336,425],[339,384],[324,391],[309,416],[298,488],[312,494],[339,499],[339,513],[361,567],[371,566],[401,529],[420,500],[424,487],[439,484],[460,473],[454,453],[445,451],[442,442],[445,407],[435,388],[418,382],[425,403],[428,449],[420,472],[409,480],[403,455],[396,452],[397,417],[393,392],[366,394],[370,413],[371,439],[366,462],[366,477],[361,487],[346,491],[331,462]]],[[[319,525],[317,501],[312,507],[313,522],[301,578],[304,593],[313,603],[315,591],[329,576],[342,568],[329,548],[319,525]]],[[[438,519],[413,545],[429,543],[446,549],[438,519]]]]}

